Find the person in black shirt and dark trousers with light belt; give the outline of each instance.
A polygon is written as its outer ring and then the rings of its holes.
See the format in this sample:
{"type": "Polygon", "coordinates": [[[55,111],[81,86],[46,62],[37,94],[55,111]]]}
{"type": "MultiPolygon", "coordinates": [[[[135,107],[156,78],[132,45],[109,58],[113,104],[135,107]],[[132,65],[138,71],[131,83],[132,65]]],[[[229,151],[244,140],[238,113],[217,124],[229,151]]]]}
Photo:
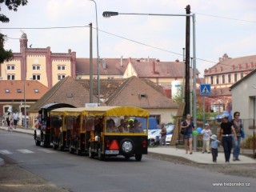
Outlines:
{"type": "Polygon", "coordinates": [[[229,122],[228,117],[224,116],[222,118],[221,130],[219,132],[220,141],[222,141],[222,146],[224,148],[225,160],[230,162],[230,154],[232,150],[232,133],[234,134],[234,140],[237,141],[237,134],[234,131],[234,126],[229,122]]]}

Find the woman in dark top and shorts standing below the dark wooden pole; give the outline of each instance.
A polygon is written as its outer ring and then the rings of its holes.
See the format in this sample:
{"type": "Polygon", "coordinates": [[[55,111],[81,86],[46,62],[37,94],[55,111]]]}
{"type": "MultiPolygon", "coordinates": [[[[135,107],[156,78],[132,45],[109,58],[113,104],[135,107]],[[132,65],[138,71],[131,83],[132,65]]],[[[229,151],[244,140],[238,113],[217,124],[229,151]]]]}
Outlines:
{"type": "Polygon", "coordinates": [[[184,147],[187,154],[187,145],[189,145],[190,154],[193,154],[192,152],[192,131],[194,130],[194,122],[191,120],[191,115],[186,114],[185,121],[182,122],[182,129],[186,129],[186,134],[184,134],[184,147]]]}

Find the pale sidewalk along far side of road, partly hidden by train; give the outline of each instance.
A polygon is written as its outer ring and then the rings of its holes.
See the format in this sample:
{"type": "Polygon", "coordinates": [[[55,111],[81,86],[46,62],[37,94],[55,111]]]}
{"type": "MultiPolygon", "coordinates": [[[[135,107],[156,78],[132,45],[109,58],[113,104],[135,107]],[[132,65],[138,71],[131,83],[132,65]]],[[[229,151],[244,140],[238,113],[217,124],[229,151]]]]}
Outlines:
{"type": "MultiPolygon", "coordinates": [[[[6,126],[0,126],[0,130],[7,130],[6,126]]],[[[33,129],[23,129],[23,128],[16,128],[13,129],[14,132],[23,133],[23,134],[34,134],[33,129]]],[[[11,132],[10,132],[11,133],[11,132]]],[[[33,138],[31,138],[33,139],[33,138]]],[[[211,154],[202,154],[202,152],[193,152],[193,154],[186,154],[184,149],[176,148],[176,146],[155,146],[148,148],[149,154],[161,154],[167,155],[169,157],[174,158],[182,158],[189,162],[199,163],[199,164],[226,164],[225,157],[222,152],[222,146],[219,147],[219,153],[217,158],[217,163],[212,161],[211,154]]],[[[255,158],[249,158],[246,155],[240,155],[239,158],[241,161],[233,161],[233,156],[231,154],[230,157],[230,164],[256,164],[255,158]]],[[[1,158],[0,158],[0,165],[1,165],[1,158]]]]}

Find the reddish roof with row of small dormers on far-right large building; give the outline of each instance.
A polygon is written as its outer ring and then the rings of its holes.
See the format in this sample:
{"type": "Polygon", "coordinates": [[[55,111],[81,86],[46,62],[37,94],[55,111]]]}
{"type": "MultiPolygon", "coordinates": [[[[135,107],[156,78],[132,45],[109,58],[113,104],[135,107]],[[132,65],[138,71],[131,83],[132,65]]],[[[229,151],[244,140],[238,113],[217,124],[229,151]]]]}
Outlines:
{"type": "MultiPolygon", "coordinates": [[[[224,56],[225,55],[226,54],[224,54],[224,56]]],[[[249,73],[256,68],[256,55],[241,58],[225,58],[224,56],[223,59],[221,58],[223,60],[222,62],[218,62],[216,65],[210,67],[209,70],[205,70],[204,75],[209,76],[213,74],[228,74],[242,71],[249,73]]]]}

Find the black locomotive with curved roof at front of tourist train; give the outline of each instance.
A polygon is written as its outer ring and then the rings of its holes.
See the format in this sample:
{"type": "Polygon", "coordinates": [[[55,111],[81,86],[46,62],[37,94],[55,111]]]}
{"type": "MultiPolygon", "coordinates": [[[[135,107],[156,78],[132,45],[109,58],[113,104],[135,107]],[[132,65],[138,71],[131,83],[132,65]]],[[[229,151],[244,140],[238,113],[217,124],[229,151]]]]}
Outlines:
{"type": "Polygon", "coordinates": [[[34,130],[34,141],[36,146],[49,147],[51,144],[51,129],[50,129],[50,111],[57,109],[69,107],[74,108],[74,106],[66,103],[49,103],[42,106],[38,114],[41,114],[41,119],[38,119],[38,126],[34,130]],[[39,122],[40,121],[40,122],[39,122]]]}

